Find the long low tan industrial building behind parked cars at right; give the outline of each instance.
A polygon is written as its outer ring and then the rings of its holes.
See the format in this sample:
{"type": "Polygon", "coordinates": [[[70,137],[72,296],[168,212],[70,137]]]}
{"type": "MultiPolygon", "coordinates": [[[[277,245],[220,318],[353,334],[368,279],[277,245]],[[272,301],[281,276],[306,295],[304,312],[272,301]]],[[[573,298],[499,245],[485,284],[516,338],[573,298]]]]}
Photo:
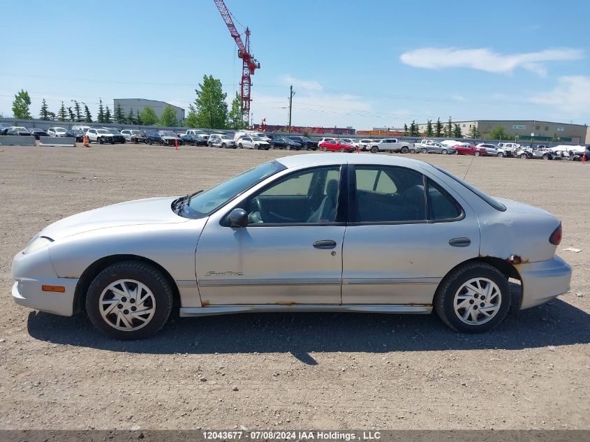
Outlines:
{"type": "MultiPolygon", "coordinates": [[[[434,125],[435,121],[432,121],[434,125]]],[[[441,121],[446,124],[446,121],[441,121]]],[[[469,136],[473,126],[478,128],[481,138],[485,138],[494,128],[502,126],[504,133],[519,140],[550,141],[557,136],[559,141],[585,144],[590,142],[590,128],[587,124],[555,123],[536,119],[476,119],[471,121],[452,121],[459,124],[463,136],[469,136]]],[[[421,133],[426,131],[426,123],[418,124],[421,133]]]]}

